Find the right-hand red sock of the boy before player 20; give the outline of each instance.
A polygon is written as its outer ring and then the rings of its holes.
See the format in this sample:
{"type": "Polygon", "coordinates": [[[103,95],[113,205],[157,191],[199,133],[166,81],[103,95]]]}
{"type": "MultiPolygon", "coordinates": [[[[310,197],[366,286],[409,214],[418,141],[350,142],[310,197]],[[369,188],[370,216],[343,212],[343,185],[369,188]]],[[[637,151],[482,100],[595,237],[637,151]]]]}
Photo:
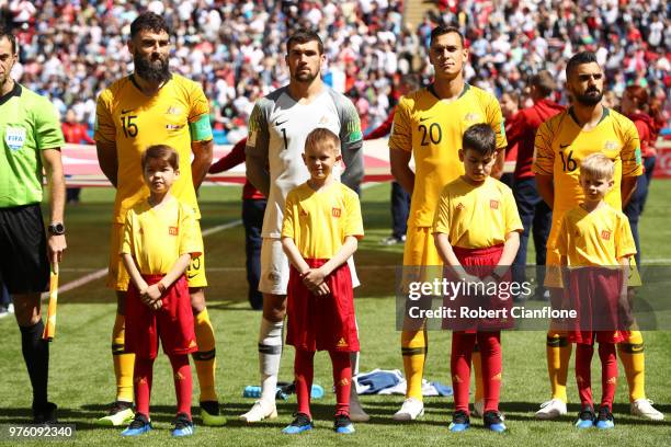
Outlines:
{"type": "Polygon", "coordinates": [[[477,332],[480,357],[482,358],[482,388],[485,411],[499,411],[501,397],[501,332],[477,332]]]}

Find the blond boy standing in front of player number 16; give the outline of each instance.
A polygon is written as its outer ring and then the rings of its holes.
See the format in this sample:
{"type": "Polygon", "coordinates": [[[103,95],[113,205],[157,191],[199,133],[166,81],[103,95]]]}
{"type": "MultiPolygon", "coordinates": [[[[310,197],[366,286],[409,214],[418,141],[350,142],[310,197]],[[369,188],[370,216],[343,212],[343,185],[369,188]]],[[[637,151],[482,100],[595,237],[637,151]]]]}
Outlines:
{"type": "Polygon", "coordinates": [[[580,164],[582,203],[561,219],[557,249],[568,267],[566,306],[578,311],[568,332],[576,347],[576,380],[581,409],[578,428],[613,428],[613,399],[617,387],[615,343],[628,336],[627,301],[629,257],[636,245],[627,217],[605,203],[614,185],[615,164],[603,153],[592,153],[580,164]],[[617,266],[617,267],[616,267],[617,266]],[[599,342],[602,366],[602,398],[594,413],[590,365],[599,342]]]}

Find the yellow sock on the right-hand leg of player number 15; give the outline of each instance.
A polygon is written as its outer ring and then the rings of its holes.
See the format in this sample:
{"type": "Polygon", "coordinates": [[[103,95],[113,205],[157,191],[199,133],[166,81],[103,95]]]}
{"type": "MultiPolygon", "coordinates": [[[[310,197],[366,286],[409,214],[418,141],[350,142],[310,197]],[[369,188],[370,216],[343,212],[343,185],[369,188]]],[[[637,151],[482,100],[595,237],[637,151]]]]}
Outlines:
{"type": "Polygon", "coordinates": [[[196,334],[196,343],[198,351],[193,353],[193,359],[198,375],[198,385],[201,387],[201,402],[216,401],[217,392],[215,391],[214,378],[217,367],[216,349],[214,340],[214,329],[209,322],[207,309],[203,309],[194,316],[194,325],[196,334]]]}

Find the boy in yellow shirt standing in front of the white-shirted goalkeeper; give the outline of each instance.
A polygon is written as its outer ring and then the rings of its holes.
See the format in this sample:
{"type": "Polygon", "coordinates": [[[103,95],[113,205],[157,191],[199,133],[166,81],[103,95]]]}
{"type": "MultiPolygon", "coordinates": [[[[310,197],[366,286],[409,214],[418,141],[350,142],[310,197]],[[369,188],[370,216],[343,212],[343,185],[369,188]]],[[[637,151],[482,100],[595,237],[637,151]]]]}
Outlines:
{"type": "Polygon", "coordinates": [[[296,348],[298,411],[283,429],[312,428],[310,389],[316,351],[328,351],[336,387],[336,433],[354,433],[350,420],[350,353],[359,352],[352,277],[348,259],[363,237],[359,196],[332,176],[340,139],[326,128],[308,134],[303,160],[310,179],[289,192],[282,245],[291,262],[286,343],[296,348]]]}

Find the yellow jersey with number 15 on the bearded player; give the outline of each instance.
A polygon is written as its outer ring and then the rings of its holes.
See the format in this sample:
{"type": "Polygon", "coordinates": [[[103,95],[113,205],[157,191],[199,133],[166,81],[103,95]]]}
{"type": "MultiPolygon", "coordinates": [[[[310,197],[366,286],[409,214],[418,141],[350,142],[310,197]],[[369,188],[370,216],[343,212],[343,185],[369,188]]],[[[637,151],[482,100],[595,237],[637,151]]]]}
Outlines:
{"type": "Polygon", "coordinates": [[[133,76],[120,79],[98,99],[95,140],[116,144],[118,174],[114,221],[123,224],[126,211],[149,196],[143,181],[140,156],[151,145],[169,145],[180,154],[180,176],[171,193],[193,208],[200,218],[191,176],[191,134],[189,124],[209,114],[203,89],[179,74],[156,96],[141,93],[133,76]]]}

